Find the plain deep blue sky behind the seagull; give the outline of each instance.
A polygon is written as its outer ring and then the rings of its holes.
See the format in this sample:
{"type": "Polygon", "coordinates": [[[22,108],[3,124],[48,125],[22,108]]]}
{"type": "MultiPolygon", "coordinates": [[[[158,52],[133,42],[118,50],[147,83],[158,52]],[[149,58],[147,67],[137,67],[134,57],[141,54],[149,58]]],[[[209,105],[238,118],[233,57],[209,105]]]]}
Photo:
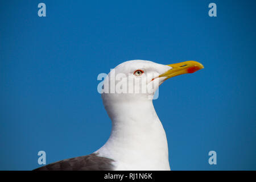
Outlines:
{"type": "Polygon", "coordinates": [[[173,170],[255,170],[255,1],[1,1],[0,169],[88,155],[111,121],[99,73],[133,59],[205,69],[174,77],[154,106],[173,170]],[[38,3],[46,3],[39,17],[38,3]],[[217,5],[217,17],[208,5],[217,5]],[[208,152],[217,152],[217,165],[208,152]]]}

